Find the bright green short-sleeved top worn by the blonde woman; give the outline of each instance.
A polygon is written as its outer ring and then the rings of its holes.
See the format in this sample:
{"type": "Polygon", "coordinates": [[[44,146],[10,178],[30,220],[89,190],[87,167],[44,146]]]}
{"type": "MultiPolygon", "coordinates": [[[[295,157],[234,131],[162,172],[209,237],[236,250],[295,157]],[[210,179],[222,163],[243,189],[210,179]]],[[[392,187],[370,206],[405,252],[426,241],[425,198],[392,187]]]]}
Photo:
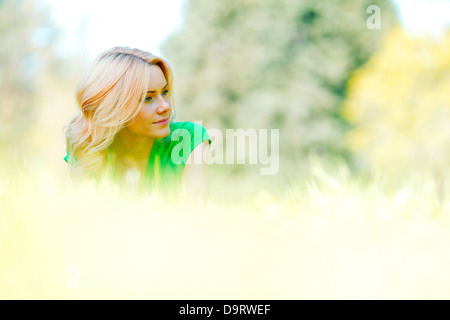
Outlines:
{"type": "MultiPolygon", "coordinates": [[[[163,139],[155,139],[147,163],[144,180],[151,188],[178,190],[184,166],[191,152],[203,141],[211,138],[206,129],[189,121],[170,123],[170,134],[163,139]]],[[[69,151],[64,157],[68,162],[69,151]]],[[[71,163],[71,165],[76,164],[71,163]]],[[[115,177],[114,168],[112,170],[115,177]]]]}

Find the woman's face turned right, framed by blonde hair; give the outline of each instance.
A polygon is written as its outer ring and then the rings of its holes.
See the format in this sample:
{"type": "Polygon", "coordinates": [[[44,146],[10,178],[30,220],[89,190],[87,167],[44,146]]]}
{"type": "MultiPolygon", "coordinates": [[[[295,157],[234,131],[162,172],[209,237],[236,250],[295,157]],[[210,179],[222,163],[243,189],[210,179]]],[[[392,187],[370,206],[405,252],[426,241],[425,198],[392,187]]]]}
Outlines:
{"type": "Polygon", "coordinates": [[[126,128],[138,136],[164,138],[170,133],[170,89],[164,73],[157,65],[150,66],[150,82],[137,118],[126,128]]]}

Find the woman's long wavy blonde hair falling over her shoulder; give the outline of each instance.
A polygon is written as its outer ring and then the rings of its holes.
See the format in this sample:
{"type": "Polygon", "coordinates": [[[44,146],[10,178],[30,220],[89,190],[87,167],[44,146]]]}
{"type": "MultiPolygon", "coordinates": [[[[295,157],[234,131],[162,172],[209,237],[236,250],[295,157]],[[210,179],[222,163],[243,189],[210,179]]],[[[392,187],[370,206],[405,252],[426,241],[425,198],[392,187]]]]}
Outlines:
{"type": "Polygon", "coordinates": [[[161,68],[169,85],[172,108],[169,121],[173,121],[173,74],[169,63],[139,49],[107,50],[78,84],[76,98],[80,111],[64,127],[68,162],[73,168],[100,177],[115,135],[136,118],[142,107],[151,65],[161,68]]]}

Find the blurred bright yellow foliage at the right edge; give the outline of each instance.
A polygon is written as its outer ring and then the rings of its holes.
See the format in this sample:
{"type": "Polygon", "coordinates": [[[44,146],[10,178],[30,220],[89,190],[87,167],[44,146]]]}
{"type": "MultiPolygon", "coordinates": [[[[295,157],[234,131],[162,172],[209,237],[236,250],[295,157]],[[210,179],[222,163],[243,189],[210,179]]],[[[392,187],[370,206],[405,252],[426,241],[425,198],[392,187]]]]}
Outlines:
{"type": "Polygon", "coordinates": [[[386,173],[447,170],[450,31],[442,39],[394,30],[349,82],[347,145],[361,167],[386,173]]]}

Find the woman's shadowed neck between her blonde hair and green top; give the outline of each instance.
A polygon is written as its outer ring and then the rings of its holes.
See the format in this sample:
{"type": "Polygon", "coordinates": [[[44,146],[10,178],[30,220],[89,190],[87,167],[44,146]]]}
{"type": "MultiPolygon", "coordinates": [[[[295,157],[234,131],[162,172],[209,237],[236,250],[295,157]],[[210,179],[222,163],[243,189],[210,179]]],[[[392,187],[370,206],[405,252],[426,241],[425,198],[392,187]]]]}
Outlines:
{"type": "Polygon", "coordinates": [[[117,133],[112,147],[118,154],[148,159],[154,142],[154,138],[138,136],[124,128],[117,133]]]}

